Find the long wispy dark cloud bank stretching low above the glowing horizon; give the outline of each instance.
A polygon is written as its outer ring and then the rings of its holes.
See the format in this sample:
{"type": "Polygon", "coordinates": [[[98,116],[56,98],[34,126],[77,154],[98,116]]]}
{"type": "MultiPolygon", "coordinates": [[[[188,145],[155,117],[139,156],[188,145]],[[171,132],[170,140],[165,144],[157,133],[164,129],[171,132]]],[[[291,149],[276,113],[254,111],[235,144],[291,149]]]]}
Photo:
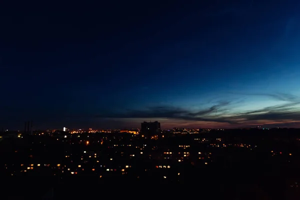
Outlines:
{"type": "Polygon", "coordinates": [[[232,112],[234,102],[217,101],[214,105],[202,109],[187,109],[175,106],[154,106],[141,110],[126,110],[96,115],[98,118],[139,118],[139,119],[170,119],[180,121],[198,121],[226,123],[232,126],[254,124],[296,124],[300,122],[300,98],[291,94],[260,93],[247,95],[264,95],[279,100],[281,104],[255,110],[232,112]],[[282,101],[284,103],[282,104],[282,101]],[[217,113],[217,114],[216,114],[217,113]]]}

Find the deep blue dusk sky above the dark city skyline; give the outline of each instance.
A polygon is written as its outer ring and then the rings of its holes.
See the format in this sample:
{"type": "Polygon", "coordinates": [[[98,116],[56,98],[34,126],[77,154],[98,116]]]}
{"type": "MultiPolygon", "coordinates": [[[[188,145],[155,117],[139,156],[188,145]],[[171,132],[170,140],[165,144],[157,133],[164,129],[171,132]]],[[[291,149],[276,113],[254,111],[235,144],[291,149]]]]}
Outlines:
{"type": "Polygon", "coordinates": [[[300,127],[300,1],[0,3],[0,126],[300,127]]]}

